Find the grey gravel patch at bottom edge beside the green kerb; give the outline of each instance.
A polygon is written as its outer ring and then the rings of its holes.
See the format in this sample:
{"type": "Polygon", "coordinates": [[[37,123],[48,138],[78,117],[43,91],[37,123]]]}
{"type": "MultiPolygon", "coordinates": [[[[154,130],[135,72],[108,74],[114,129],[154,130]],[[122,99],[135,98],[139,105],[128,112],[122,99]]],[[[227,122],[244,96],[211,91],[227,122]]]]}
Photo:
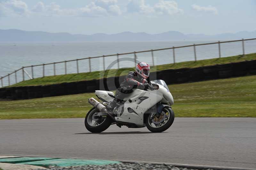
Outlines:
{"type": "MultiPolygon", "coordinates": [[[[71,166],[71,167],[50,167],[48,169],[36,169],[36,170],[196,170],[175,167],[171,165],[156,165],[156,164],[144,164],[144,163],[121,163],[121,164],[110,164],[110,165],[87,165],[87,166],[71,166]]],[[[202,169],[200,169],[202,170],[202,169]]],[[[213,170],[213,169],[205,169],[213,170]]]]}

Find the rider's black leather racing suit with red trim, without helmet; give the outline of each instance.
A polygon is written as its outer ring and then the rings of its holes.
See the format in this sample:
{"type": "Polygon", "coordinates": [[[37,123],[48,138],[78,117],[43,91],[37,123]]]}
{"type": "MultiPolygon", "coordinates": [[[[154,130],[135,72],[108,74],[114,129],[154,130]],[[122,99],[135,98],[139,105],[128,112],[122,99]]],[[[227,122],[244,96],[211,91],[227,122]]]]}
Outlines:
{"type": "Polygon", "coordinates": [[[146,79],[140,78],[136,72],[130,72],[116,90],[115,100],[122,101],[127,94],[132,93],[132,89],[145,89],[145,83],[148,83],[146,79]]]}

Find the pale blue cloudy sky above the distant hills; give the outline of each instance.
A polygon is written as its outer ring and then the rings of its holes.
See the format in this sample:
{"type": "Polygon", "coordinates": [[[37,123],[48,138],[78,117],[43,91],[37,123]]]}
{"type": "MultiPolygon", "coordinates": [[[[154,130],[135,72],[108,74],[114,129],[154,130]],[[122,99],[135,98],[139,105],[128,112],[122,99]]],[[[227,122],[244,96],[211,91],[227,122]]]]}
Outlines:
{"type": "Polygon", "coordinates": [[[0,0],[0,29],[115,34],[256,30],[256,0],[0,0]]]}

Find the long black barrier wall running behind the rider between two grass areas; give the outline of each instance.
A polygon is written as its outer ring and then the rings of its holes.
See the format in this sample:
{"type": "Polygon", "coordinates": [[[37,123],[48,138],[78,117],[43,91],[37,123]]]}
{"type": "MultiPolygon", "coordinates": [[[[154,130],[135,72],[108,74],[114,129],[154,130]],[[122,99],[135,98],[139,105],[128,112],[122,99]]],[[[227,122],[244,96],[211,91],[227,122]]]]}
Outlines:
{"type": "MultiPolygon", "coordinates": [[[[162,79],[166,84],[174,84],[238,77],[250,74],[256,75],[256,60],[191,69],[182,68],[152,72],[150,73],[150,80],[162,79]]],[[[110,77],[108,79],[78,81],[46,86],[1,88],[0,98],[19,100],[94,92],[99,89],[115,90],[123,80],[124,76],[120,76],[110,77]]]]}

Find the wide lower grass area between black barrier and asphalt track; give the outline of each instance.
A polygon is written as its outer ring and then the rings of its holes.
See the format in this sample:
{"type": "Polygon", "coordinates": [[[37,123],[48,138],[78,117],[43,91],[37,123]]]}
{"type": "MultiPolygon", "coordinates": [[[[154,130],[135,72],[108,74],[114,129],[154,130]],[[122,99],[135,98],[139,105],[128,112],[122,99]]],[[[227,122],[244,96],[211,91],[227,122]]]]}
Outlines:
{"type": "MultiPolygon", "coordinates": [[[[256,117],[256,76],[169,85],[176,117],[256,117]]],[[[1,101],[0,119],[82,118],[94,93],[1,101]]],[[[97,98],[97,97],[96,97],[97,98]]]]}

